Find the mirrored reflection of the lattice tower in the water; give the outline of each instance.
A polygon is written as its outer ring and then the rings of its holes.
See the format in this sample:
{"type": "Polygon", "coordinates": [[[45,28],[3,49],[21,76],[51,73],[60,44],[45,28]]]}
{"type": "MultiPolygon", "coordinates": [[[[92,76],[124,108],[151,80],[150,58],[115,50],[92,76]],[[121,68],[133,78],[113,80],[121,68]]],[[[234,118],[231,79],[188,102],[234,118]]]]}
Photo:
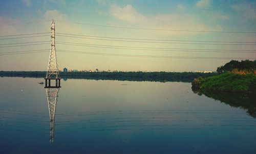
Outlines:
{"type": "Polygon", "coordinates": [[[58,101],[58,92],[59,92],[59,88],[46,89],[47,102],[48,102],[49,115],[50,115],[50,143],[51,143],[51,146],[53,145],[53,138],[54,138],[54,117],[55,117],[56,105],[57,105],[57,101],[58,101]]]}

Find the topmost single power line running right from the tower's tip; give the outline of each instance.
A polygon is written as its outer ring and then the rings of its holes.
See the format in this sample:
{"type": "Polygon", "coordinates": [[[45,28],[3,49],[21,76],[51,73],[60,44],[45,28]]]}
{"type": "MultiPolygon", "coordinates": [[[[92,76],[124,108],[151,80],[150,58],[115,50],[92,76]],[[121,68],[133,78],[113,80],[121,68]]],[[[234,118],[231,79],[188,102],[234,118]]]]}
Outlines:
{"type": "Polygon", "coordinates": [[[97,26],[97,27],[109,27],[109,28],[119,28],[119,29],[136,29],[136,30],[151,30],[151,31],[177,31],[177,32],[201,32],[201,33],[256,33],[248,31],[197,31],[197,30],[171,30],[171,29],[151,29],[151,28],[134,28],[134,27],[121,27],[121,26],[108,26],[108,25],[97,25],[97,24],[87,24],[87,23],[76,23],[71,21],[55,20],[63,23],[71,23],[78,25],[87,25],[87,26],[97,26]]]}

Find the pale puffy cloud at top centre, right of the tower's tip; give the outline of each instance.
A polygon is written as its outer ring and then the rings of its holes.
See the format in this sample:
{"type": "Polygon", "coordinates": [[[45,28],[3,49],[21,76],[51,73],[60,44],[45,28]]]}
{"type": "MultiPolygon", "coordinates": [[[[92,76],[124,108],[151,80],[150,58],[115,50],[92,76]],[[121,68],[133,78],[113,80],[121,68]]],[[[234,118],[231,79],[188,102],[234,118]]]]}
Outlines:
{"type": "Polygon", "coordinates": [[[126,5],[125,7],[121,8],[116,4],[113,4],[110,8],[110,13],[114,17],[129,23],[136,23],[146,20],[146,17],[137,12],[132,5],[126,5]]]}

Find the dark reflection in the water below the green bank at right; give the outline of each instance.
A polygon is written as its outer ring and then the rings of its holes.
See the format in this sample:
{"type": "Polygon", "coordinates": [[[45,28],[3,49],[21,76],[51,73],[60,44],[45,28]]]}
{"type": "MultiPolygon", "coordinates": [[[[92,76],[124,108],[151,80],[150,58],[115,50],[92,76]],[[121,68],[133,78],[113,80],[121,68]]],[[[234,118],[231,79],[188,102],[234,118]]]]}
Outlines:
{"type": "Polygon", "coordinates": [[[247,109],[247,113],[256,118],[256,96],[250,94],[239,94],[239,93],[223,93],[223,92],[214,92],[214,91],[201,91],[193,90],[194,93],[198,95],[205,95],[209,98],[219,100],[225,104],[228,104],[232,107],[241,107],[247,109]]]}

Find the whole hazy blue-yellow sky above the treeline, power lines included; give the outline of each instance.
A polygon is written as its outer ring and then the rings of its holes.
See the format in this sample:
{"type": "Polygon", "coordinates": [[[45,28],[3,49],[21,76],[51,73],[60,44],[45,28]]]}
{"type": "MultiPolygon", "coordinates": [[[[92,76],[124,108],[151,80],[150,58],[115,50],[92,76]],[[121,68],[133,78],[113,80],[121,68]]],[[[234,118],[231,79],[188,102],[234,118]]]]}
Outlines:
{"type": "Polygon", "coordinates": [[[0,70],[46,71],[52,19],[59,70],[216,71],[256,59],[256,1],[1,0],[0,70]]]}

